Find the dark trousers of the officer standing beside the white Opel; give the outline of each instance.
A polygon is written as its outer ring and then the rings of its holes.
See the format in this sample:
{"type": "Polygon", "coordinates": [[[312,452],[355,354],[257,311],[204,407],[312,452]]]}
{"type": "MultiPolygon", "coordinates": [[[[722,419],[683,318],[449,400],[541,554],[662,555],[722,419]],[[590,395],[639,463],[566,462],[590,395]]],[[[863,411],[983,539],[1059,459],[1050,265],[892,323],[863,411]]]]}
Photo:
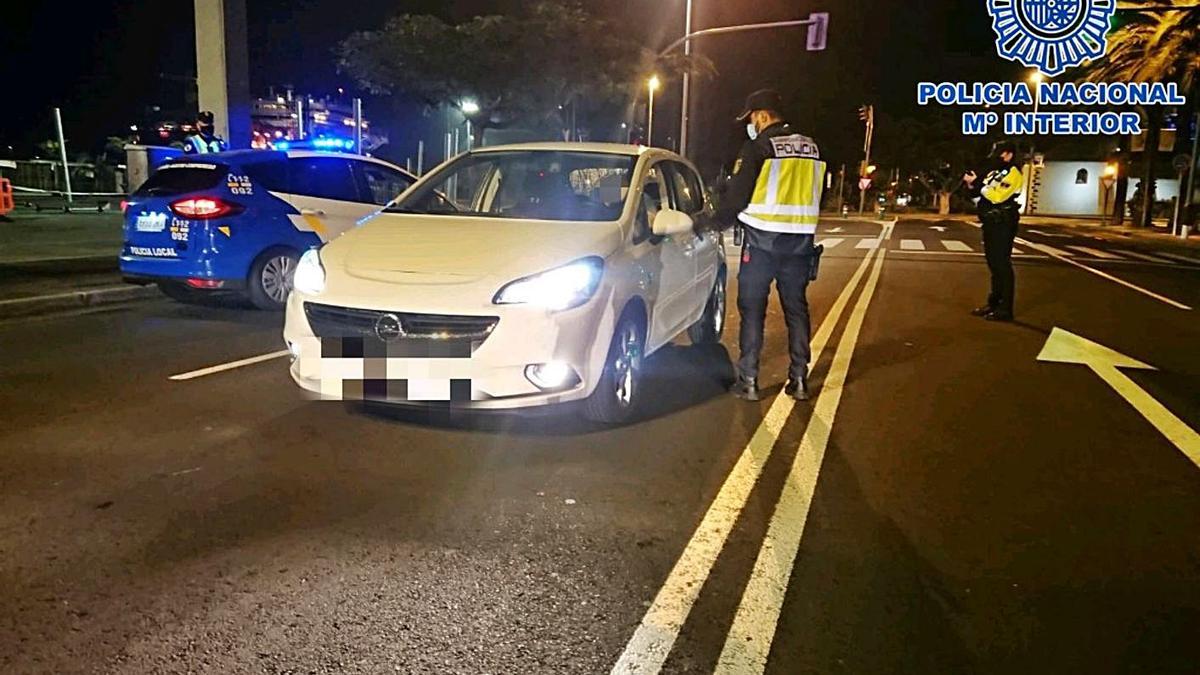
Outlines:
{"type": "Polygon", "coordinates": [[[808,299],[811,265],[810,253],[776,253],[749,245],[743,247],[742,269],[738,271],[738,311],[742,312],[742,358],[738,360],[738,374],[742,377],[748,380],[758,377],[772,282],[775,282],[779,289],[784,318],[787,322],[791,356],[788,376],[792,380],[808,376],[811,356],[808,299]]]}

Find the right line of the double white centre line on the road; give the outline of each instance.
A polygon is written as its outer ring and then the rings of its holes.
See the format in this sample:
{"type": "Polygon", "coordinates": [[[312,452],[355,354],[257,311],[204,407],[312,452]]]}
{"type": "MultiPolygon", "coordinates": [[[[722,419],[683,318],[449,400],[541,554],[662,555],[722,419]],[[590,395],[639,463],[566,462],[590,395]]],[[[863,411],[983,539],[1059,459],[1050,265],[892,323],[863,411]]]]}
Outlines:
{"type": "Polygon", "coordinates": [[[824,462],[826,448],[829,446],[829,436],[846,388],[850,363],[858,346],[866,310],[878,287],[880,271],[886,257],[887,251],[881,251],[876,258],[871,276],[863,287],[863,294],[859,295],[838,344],[833,365],[829,366],[829,375],[826,376],[821,394],[812,407],[812,419],[800,440],[800,448],[787,474],[775,513],[770,518],[767,536],[755,561],[754,573],[742,595],[714,675],[752,675],[767,669],[767,658],[775,640],[775,629],[779,626],[796,556],[800,549],[809,508],[812,506],[817,477],[824,462]]]}

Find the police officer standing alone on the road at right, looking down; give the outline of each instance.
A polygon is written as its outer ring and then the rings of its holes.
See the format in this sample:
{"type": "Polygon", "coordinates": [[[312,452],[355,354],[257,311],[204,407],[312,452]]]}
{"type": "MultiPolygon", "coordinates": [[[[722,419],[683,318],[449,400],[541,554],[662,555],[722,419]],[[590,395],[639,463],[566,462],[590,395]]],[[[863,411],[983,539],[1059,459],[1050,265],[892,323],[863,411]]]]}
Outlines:
{"type": "Polygon", "coordinates": [[[979,198],[979,222],[983,223],[983,251],[991,271],[988,304],[971,313],[988,321],[1013,321],[1016,275],[1013,271],[1013,241],[1021,220],[1018,197],[1025,185],[1021,168],[1014,163],[1016,145],[1002,141],[992,147],[992,165],[979,180],[971,171],[962,177],[968,192],[979,198]]]}

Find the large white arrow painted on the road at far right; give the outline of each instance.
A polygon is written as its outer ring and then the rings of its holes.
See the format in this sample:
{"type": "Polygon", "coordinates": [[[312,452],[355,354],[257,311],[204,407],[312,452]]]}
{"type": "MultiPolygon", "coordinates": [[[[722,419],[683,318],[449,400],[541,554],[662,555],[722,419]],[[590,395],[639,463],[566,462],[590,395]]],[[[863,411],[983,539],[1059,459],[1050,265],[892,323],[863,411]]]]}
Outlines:
{"type": "Polygon", "coordinates": [[[1122,374],[1121,368],[1135,370],[1156,370],[1154,366],[1146,365],[1138,359],[1115,352],[1103,345],[1097,345],[1086,338],[1080,338],[1061,328],[1055,328],[1046,340],[1045,347],[1038,354],[1039,362],[1067,363],[1086,365],[1092,372],[1100,376],[1109,387],[1116,390],[1129,402],[1147,422],[1158,429],[1159,434],[1166,436],[1176,448],[1180,449],[1192,464],[1200,467],[1200,434],[1183,423],[1166,406],[1158,402],[1136,382],[1122,374]]]}

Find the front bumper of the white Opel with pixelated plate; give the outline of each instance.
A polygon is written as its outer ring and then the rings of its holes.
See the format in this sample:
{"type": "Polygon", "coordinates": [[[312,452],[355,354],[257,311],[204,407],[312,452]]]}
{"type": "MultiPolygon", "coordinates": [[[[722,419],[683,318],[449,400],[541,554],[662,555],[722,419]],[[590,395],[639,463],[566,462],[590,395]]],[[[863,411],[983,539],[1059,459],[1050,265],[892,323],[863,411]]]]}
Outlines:
{"type": "Polygon", "coordinates": [[[292,378],[314,399],[510,410],[590,395],[604,370],[613,315],[612,303],[600,295],[574,310],[547,312],[491,304],[466,309],[383,303],[348,306],[294,292],[288,299],[283,338],[293,354],[292,378]],[[306,303],[380,313],[490,316],[497,322],[485,339],[468,348],[428,338],[388,344],[373,331],[338,339],[318,336],[306,303]],[[569,365],[577,381],[551,390],[534,384],[527,369],[547,363],[569,365]]]}

